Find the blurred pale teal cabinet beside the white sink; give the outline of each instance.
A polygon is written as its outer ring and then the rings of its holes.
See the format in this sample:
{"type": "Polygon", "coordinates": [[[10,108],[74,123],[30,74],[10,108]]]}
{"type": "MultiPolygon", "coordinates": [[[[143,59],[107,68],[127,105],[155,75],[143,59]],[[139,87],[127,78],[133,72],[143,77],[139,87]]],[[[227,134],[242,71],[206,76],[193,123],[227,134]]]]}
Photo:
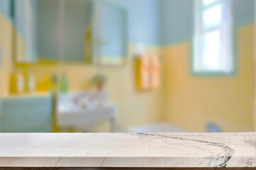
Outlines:
{"type": "Polygon", "coordinates": [[[51,132],[52,97],[1,98],[1,132],[51,132]]]}

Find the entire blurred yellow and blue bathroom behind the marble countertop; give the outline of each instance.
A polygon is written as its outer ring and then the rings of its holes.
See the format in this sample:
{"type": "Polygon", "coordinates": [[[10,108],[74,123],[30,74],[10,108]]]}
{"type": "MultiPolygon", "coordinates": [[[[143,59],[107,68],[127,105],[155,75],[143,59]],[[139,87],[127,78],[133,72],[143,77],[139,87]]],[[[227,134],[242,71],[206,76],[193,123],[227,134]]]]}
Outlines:
{"type": "Polygon", "coordinates": [[[0,132],[252,132],[255,0],[0,0],[0,132]]]}

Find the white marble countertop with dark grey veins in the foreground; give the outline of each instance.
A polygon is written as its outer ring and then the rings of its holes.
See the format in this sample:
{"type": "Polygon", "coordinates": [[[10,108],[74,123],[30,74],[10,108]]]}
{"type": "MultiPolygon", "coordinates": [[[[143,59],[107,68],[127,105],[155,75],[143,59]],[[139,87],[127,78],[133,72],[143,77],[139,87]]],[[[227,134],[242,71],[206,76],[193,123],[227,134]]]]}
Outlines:
{"type": "Polygon", "coordinates": [[[1,133],[0,166],[256,167],[256,132],[1,133]]]}

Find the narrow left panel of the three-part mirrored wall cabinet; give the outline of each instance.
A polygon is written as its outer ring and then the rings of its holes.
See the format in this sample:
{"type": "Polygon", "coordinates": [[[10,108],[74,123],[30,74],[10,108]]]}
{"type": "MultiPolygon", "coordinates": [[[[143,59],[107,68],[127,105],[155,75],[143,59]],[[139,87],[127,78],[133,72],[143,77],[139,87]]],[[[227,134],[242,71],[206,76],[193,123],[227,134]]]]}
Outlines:
{"type": "Polygon", "coordinates": [[[12,1],[14,57],[18,63],[36,62],[38,0],[12,1]]]}

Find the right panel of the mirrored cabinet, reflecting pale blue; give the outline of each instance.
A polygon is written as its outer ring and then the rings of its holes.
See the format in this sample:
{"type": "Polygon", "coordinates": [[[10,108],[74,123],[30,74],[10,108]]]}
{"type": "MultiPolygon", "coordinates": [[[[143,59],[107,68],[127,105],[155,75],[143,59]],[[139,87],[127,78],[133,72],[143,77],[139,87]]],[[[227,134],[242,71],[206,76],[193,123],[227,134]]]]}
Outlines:
{"type": "Polygon", "coordinates": [[[127,56],[127,12],[116,5],[97,2],[94,10],[94,63],[124,64],[127,56]]]}

